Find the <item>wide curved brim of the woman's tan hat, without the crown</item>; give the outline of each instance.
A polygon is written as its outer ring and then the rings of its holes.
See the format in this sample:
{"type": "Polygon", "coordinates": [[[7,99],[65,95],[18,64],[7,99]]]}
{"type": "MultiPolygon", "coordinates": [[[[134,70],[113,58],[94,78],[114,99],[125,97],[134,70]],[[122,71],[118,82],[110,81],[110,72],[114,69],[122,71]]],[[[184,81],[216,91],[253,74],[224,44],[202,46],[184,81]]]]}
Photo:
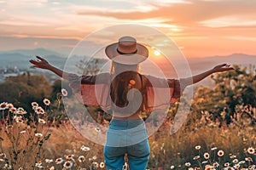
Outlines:
{"type": "Polygon", "coordinates": [[[119,54],[119,43],[112,43],[105,48],[105,53],[109,59],[124,65],[137,65],[148,58],[148,48],[137,43],[137,52],[135,54],[119,54]]]}

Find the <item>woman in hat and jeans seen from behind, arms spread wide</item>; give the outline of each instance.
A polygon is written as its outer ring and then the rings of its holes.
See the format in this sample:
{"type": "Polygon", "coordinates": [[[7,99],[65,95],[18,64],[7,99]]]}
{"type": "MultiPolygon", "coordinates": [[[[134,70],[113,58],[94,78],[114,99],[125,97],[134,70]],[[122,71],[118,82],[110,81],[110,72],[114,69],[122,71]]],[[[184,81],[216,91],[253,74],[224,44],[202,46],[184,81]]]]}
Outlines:
{"type": "Polygon", "coordinates": [[[119,42],[105,48],[105,53],[113,61],[112,71],[96,76],[78,77],[49,65],[38,56],[38,60],[30,62],[34,67],[53,71],[69,80],[73,92],[82,97],[84,104],[100,105],[105,111],[113,111],[104,147],[106,167],[112,170],[122,169],[125,153],[131,170],[146,169],[150,151],[147,131],[140,116],[142,111],[150,112],[175,102],[180,98],[183,88],[200,82],[212,73],[233,70],[227,64],[217,65],[209,71],[180,80],[141,75],[138,65],[148,58],[148,49],[133,37],[119,38],[119,42]],[[100,88],[96,88],[96,85],[100,88]],[[170,96],[154,100],[154,93],[157,93],[154,87],[168,88],[170,93],[167,94],[170,96]],[[101,93],[96,96],[97,92],[101,93]]]}

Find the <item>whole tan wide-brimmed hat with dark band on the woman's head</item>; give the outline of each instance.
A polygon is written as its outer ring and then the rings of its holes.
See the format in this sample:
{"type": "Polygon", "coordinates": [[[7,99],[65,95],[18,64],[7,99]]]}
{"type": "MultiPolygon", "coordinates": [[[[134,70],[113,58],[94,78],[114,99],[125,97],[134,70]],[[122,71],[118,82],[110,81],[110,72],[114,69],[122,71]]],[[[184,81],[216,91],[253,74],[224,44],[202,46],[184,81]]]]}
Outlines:
{"type": "Polygon", "coordinates": [[[105,48],[109,59],[124,65],[137,65],[148,58],[148,48],[134,37],[120,37],[119,42],[112,43],[105,48]]]}

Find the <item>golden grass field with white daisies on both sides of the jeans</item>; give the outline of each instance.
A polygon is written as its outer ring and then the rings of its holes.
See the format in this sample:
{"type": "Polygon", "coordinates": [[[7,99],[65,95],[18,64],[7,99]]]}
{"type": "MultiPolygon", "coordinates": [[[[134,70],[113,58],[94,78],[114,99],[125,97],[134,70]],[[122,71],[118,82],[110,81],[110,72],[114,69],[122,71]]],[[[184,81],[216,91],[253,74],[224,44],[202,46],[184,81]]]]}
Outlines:
{"type": "MultiPolygon", "coordinates": [[[[49,123],[47,107],[32,107],[36,114],[27,122],[22,108],[1,104],[2,112],[8,112],[1,124],[1,168],[104,169],[102,145],[84,139],[68,121],[49,123]]],[[[229,127],[194,122],[173,135],[166,121],[149,138],[148,169],[253,169],[256,136],[253,127],[244,126],[247,121],[229,127]]]]}

